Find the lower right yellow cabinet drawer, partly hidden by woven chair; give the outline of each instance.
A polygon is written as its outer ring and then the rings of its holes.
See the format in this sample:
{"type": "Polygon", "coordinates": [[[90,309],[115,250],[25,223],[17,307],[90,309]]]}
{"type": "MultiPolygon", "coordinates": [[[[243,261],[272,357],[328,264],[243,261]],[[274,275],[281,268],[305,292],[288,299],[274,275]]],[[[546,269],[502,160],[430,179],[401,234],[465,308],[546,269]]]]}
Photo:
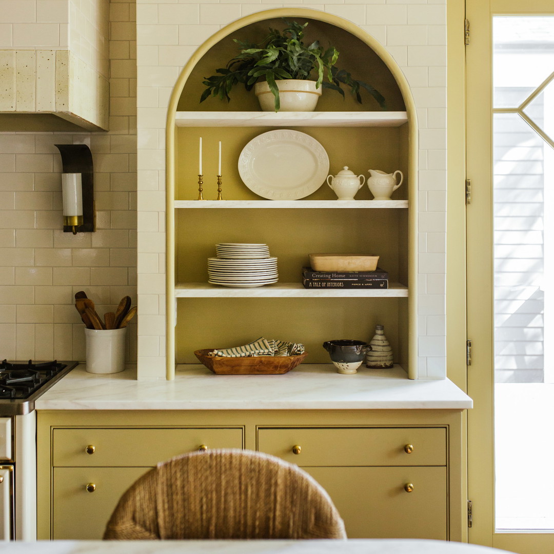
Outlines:
{"type": "Polygon", "coordinates": [[[445,467],[304,469],[331,496],[348,538],[448,538],[445,467]]]}

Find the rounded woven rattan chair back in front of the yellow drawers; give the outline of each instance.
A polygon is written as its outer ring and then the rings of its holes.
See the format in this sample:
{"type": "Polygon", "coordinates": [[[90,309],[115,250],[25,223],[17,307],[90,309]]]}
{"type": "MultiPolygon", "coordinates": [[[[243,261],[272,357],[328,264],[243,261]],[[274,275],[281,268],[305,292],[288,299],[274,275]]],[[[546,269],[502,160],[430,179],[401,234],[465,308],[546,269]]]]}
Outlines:
{"type": "Polygon", "coordinates": [[[121,497],[105,539],[346,538],[329,495],[310,475],[252,450],[184,454],[121,497]]]}

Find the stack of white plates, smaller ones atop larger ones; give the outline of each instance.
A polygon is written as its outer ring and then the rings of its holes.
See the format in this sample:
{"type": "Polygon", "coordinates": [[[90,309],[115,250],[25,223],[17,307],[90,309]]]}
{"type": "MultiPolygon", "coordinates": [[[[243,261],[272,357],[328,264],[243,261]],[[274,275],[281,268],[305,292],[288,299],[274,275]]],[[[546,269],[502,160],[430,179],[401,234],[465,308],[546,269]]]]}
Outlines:
{"type": "Polygon", "coordinates": [[[251,288],[277,283],[277,258],[266,244],[217,244],[217,258],[208,258],[208,283],[251,288]],[[224,248],[228,247],[228,248],[224,248]]]}

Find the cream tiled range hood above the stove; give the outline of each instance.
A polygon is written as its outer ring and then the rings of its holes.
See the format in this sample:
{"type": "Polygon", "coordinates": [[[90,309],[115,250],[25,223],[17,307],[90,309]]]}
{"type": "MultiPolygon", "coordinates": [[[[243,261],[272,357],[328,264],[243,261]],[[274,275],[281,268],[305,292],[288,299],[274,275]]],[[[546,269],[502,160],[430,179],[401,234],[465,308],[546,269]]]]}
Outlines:
{"type": "Polygon", "coordinates": [[[22,38],[0,48],[0,131],[107,130],[109,2],[59,0],[12,26],[22,38]]]}

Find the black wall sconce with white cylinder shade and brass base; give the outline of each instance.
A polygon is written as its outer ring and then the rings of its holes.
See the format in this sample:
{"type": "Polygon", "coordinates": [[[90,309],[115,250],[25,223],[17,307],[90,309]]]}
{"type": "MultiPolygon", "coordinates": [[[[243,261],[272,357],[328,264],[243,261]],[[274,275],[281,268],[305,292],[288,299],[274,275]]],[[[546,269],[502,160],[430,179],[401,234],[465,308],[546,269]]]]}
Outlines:
{"type": "Polygon", "coordinates": [[[94,233],[93,155],[86,144],[55,144],[61,155],[64,233],[94,233]]]}

